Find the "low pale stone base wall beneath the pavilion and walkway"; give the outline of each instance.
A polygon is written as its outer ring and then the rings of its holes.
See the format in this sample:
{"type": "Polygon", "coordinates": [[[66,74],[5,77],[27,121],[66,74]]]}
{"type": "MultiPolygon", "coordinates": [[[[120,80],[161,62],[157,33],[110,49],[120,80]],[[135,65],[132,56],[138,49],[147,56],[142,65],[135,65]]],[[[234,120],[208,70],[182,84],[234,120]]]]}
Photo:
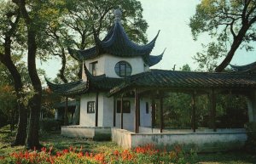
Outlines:
{"type": "Polygon", "coordinates": [[[159,133],[159,129],[140,127],[141,133],[133,133],[116,127],[61,127],[61,135],[67,137],[90,138],[94,140],[111,140],[125,149],[137,146],[154,144],[157,148],[172,150],[179,144],[183,150],[196,150],[198,152],[216,152],[237,150],[245,144],[247,134],[245,129],[211,129],[173,130],[165,129],[159,133]]]}

